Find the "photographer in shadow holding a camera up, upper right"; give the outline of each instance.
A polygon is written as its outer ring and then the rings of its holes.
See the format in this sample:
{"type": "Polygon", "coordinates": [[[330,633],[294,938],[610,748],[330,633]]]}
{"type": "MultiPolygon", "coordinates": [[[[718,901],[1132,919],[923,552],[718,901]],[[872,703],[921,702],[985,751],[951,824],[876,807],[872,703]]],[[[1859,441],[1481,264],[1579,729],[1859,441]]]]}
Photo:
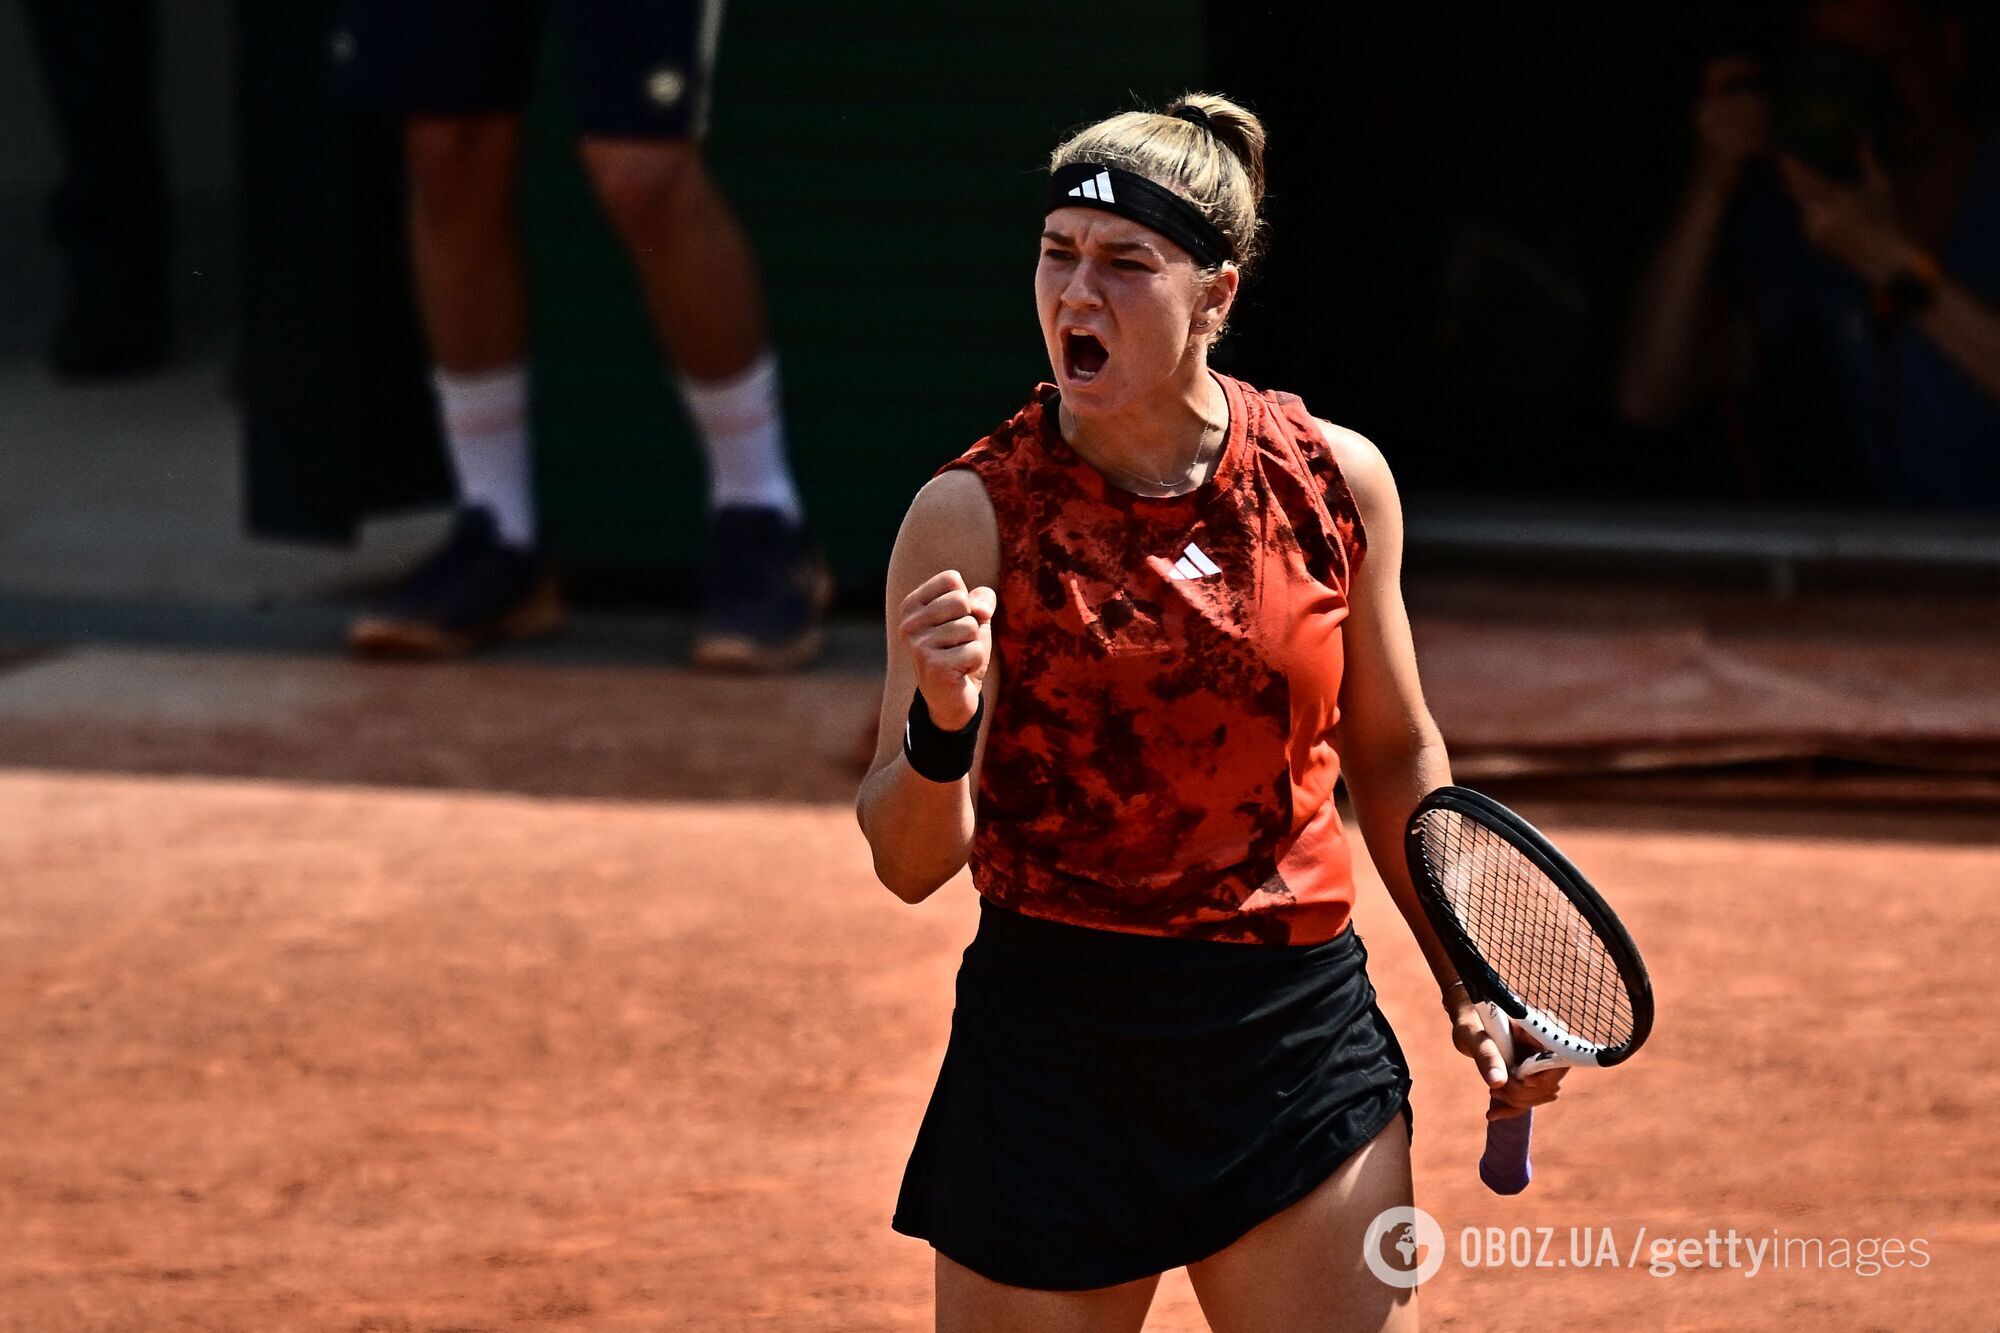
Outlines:
{"type": "Polygon", "coordinates": [[[1744,398],[1784,388],[1772,344],[1806,336],[1860,458],[1802,440],[1802,470],[1858,472],[1842,498],[2000,504],[2000,134],[1966,106],[1968,62],[1948,4],[1810,0],[1776,88],[1758,60],[1708,64],[1618,376],[1628,420],[1720,388],[1740,434],[1744,398]]]}

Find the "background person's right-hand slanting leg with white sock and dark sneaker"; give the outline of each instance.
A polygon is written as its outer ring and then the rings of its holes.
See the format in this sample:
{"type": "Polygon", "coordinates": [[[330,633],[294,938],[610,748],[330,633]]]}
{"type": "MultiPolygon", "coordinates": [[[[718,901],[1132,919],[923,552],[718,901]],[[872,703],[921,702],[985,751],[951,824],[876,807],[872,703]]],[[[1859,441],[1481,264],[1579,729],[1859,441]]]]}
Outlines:
{"type": "Polygon", "coordinates": [[[558,0],[584,166],[632,254],[708,458],[712,546],[694,658],[818,652],[832,590],[786,460],[756,258],[702,160],[720,0],[558,0]]]}

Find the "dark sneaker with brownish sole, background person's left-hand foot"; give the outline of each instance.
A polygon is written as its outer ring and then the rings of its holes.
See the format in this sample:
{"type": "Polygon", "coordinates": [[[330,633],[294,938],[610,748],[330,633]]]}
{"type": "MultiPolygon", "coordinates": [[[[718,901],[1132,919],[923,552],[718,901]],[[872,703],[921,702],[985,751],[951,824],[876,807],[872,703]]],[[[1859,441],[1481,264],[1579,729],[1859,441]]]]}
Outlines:
{"type": "Polygon", "coordinates": [[[548,564],[504,546],[484,508],[462,508],[444,546],[354,620],[348,646],[366,656],[458,656],[548,634],[560,622],[548,564]]]}

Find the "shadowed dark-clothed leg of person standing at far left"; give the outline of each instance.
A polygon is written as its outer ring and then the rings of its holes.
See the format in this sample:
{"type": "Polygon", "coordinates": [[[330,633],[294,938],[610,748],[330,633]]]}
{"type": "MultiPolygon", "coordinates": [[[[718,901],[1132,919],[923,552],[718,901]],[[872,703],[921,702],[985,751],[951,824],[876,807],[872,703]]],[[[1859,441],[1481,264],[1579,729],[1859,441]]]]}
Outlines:
{"type": "Polygon", "coordinates": [[[48,364],[64,380],[144,374],[172,350],[172,214],[160,142],[152,0],[26,0],[62,178],[48,234],[62,314],[48,364]]]}

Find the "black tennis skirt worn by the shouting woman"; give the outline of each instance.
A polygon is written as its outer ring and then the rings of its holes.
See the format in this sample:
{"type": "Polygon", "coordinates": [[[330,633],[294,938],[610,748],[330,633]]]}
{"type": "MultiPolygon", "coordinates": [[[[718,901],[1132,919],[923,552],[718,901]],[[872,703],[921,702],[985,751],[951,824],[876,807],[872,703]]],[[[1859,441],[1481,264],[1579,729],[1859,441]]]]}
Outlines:
{"type": "Polygon", "coordinates": [[[1160,939],[980,899],[896,1231],[1048,1291],[1228,1247],[1408,1115],[1366,959],[1352,929],[1160,939]]]}

